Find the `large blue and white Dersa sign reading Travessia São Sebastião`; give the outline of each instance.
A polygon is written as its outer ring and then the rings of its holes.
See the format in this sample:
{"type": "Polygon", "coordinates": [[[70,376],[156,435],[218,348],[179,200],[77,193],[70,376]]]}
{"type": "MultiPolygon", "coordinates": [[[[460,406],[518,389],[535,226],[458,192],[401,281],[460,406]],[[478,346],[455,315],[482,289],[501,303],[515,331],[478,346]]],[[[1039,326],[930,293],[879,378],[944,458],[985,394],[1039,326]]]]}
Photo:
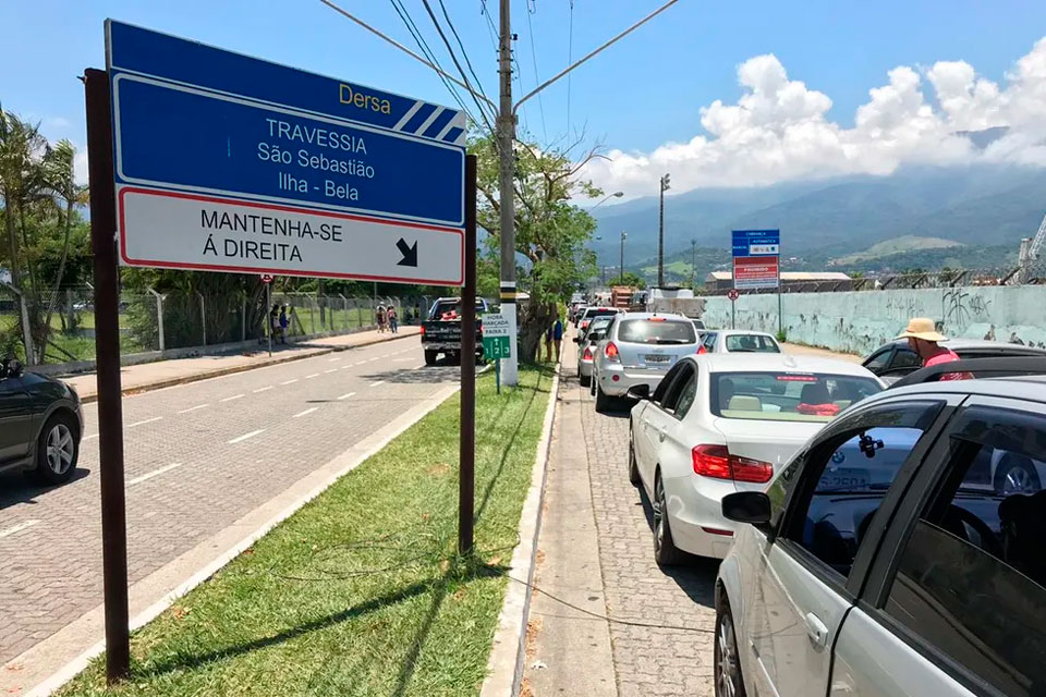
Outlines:
{"type": "Polygon", "coordinates": [[[106,28],[124,264],[461,284],[462,112],[106,28]]]}

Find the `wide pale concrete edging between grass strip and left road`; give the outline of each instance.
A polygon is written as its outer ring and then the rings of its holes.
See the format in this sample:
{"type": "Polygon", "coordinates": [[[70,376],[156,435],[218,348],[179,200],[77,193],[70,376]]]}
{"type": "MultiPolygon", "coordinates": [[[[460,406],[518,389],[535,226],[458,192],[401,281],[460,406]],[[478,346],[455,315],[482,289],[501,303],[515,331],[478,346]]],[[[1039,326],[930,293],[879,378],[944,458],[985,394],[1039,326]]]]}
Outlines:
{"type": "MultiPolygon", "coordinates": [[[[127,589],[132,612],[131,631],[134,632],[155,620],[175,600],[214,576],[259,538],[329,489],[341,477],[380,452],[392,440],[457,394],[460,389],[460,384],[446,387],[424,402],[415,404],[386,428],[372,433],[335,456],[323,467],[300,479],[289,490],[263,503],[224,530],[203,540],[193,549],[131,586],[127,589]],[[181,578],[175,578],[172,583],[170,576],[181,578]]],[[[56,657],[52,662],[59,663],[59,667],[49,675],[39,678],[24,693],[25,697],[48,697],[83,672],[95,657],[105,651],[105,640],[97,638],[104,635],[104,606],[89,610],[60,629],[58,634],[51,635],[5,663],[5,665],[28,664],[40,660],[41,655],[45,657],[42,660],[46,661],[48,653],[56,657]]],[[[0,675],[0,678],[2,677],[3,675],[0,675]]],[[[7,684],[0,680],[0,692],[4,687],[7,684]]],[[[13,693],[21,688],[21,686],[14,686],[8,688],[8,692],[13,693]]]]}

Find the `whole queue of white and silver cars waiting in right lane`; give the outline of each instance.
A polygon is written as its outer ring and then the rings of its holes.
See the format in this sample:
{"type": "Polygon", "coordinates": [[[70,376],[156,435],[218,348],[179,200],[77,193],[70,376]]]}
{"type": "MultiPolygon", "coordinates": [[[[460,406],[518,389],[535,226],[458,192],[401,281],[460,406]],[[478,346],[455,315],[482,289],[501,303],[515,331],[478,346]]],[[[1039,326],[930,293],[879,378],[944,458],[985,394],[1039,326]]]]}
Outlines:
{"type": "Polygon", "coordinates": [[[893,342],[861,366],[684,322],[581,343],[597,408],[604,384],[634,402],[657,562],[722,560],[716,695],[1044,694],[1046,351],[956,341],[920,368],[893,342]]]}

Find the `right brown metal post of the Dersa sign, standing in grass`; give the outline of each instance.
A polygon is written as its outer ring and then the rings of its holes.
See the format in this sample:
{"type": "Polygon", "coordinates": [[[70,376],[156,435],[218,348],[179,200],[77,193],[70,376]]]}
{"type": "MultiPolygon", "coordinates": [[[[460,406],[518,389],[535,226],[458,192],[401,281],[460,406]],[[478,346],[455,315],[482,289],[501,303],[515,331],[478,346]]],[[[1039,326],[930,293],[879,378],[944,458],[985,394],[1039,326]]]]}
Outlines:
{"type": "Polygon", "coordinates": [[[476,498],[476,156],[465,157],[465,284],[461,288],[458,552],[471,554],[476,498]]]}

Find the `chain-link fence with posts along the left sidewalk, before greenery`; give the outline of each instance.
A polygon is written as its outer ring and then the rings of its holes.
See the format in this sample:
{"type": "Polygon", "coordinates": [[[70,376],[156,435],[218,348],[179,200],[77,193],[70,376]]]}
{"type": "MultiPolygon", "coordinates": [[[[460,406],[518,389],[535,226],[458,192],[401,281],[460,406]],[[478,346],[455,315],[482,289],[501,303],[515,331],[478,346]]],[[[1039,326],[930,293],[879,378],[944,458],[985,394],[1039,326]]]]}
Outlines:
{"type": "MultiPolygon", "coordinates": [[[[377,327],[378,307],[394,307],[400,326],[417,325],[433,297],[348,297],[316,293],[271,293],[257,297],[208,297],[202,293],[147,290],[120,295],[122,354],[173,348],[215,348],[222,344],[267,341],[270,313],[287,316],[285,337],[302,340],[377,327]]],[[[95,358],[94,291],[80,288],[29,302],[0,285],[0,354],[29,365],[75,363],[95,358]],[[27,356],[24,325],[32,355],[27,356]]]]}

